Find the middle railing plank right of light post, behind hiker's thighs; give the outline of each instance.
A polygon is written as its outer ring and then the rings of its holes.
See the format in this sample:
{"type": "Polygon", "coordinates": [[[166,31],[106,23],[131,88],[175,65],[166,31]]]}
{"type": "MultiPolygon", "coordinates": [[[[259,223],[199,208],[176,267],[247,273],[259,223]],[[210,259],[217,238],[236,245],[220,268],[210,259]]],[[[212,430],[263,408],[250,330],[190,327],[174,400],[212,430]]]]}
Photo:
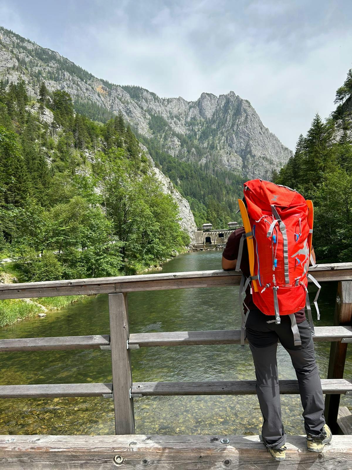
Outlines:
{"type": "MultiPolygon", "coordinates": [[[[241,330],[239,329],[131,333],[129,344],[140,347],[232,345],[240,343],[240,337],[241,330]]],[[[315,327],[314,341],[341,341],[342,338],[352,338],[352,327],[315,327]]]]}

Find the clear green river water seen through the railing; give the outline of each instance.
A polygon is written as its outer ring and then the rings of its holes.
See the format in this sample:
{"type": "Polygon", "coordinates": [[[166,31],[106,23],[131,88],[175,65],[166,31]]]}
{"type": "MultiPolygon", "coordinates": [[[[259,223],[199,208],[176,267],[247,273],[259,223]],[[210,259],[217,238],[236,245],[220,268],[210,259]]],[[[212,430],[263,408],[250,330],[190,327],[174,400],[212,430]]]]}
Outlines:
{"type": "MultiPolygon", "coordinates": [[[[221,251],[191,252],[168,262],[163,272],[219,269],[221,251]]],[[[159,272],[159,271],[158,271],[159,272]]],[[[323,285],[320,325],[331,325],[336,283],[323,285]]],[[[130,332],[239,329],[238,287],[179,289],[129,294],[130,332]]],[[[312,292],[313,294],[313,292],[312,292]]],[[[317,323],[316,323],[317,324],[317,323]]],[[[44,319],[0,330],[0,338],[109,333],[107,295],[83,298],[44,319]]],[[[330,343],[315,343],[326,378],[330,343]]],[[[176,346],[133,350],[134,381],[254,379],[248,346],[176,346]]],[[[100,350],[0,353],[0,384],[111,382],[110,352],[100,350]]],[[[289,355],[279,345],[280,378],[296,378],[289,355]]],[[[352,354],[345,376],[351,376],[352,354]]],[[[283,421],[291,434],[303,433],[298,395],[282,395],[283,421]]],[[[343,405],[351,399],[342,397],[343,405]]],[[[159,434],[257,434],[261,415],[257,397],[144,397],[134,400],[136,432],[159,434]]],[[[113,434],[111,399],[3,399],[0,434],[113,434]]]]}

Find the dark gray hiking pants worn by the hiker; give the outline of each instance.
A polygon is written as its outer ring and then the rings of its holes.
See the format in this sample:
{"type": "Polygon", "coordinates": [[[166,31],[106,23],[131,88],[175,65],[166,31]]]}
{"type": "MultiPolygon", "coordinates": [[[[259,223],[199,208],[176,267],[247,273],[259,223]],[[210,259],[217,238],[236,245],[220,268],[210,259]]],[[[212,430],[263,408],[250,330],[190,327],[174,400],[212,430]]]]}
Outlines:
{"type": "Polygon", "coordinates": [[[295,346],[290,317],[283,315],[280,325],[276,325],[275,322],[267,323],[273,319],[275,316],[264,315],[259,310],[251,310],[247,317],[245,331],[253,355],[257,378],[256,391],[264,419],[261,435],[266,446],[278,449],[286,442],[286,433],[281,419],[277,375],[278,339],[290,354],[292,365],[296,370],[306,433],[310,436],[321,436],[325,419],[323,416],[324,399],[315,363],[309,323],[305,320],[297,324],[302,345],[295,346]]]}

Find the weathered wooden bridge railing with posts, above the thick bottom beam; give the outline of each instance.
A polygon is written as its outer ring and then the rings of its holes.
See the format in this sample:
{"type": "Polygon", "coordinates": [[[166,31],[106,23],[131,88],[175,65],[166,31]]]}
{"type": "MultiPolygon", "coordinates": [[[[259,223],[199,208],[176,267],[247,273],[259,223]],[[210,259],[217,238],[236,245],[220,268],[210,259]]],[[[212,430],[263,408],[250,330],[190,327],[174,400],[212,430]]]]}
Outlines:
{"type": "MultiPolygon", "coordinates": [[[[316,327],[314,341],[330,341],[328,378],[321,380],[326,393],[330,427],[337,427],[341,394],[352,394],[352,381],[343,378],[347,344],[352,342],[352,263],[324,264],[310,269],[318,282],[338,282],[332,327],[316,327]]],[[[130,350],[141,347],[238,344],[239,330],[130,333],[127,293],[142,290],[234,286],[240,282],[234,271],[196,271],[145,274],[72,281],[3,284],[0,298],[35,298],[77,294],[109,294],[110,335],[46,337],[0,340],[0,352],[65,349],[110,349],[112,383],[2,385],[0,398],[104,396],[114,399],[116,434],[134,434],[133,399],[152,395],[254,394],[254,381],[132,382],[130,350]]],[[[335,293],[333,293],[335,295],[335,293]]],[[[280,393],[298,393],[296,380],[280,381],[280,393]]]]}

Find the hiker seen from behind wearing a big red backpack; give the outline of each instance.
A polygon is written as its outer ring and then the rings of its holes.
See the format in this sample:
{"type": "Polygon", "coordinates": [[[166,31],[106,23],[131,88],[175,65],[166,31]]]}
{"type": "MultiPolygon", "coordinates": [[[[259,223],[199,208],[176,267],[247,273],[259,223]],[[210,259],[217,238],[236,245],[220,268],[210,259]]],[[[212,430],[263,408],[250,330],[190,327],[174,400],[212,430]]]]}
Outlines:
{"type": "Polygon", "coordinates": [[[320,285],[308,274],[309,264],[315,264],[312,201],[291,188],[250,180],[238,204],[244,227],[230,235],[222,253],[222,268],[242,272],[241,344],[246,337],[253,355],[263,443],[276,461],[285,459],[276,360],[280,340],[296,371],[308,450],[321,452],[332,435],[323,415],[307,290],[310,278],[318,287],[317,307],[320,285]]]}

